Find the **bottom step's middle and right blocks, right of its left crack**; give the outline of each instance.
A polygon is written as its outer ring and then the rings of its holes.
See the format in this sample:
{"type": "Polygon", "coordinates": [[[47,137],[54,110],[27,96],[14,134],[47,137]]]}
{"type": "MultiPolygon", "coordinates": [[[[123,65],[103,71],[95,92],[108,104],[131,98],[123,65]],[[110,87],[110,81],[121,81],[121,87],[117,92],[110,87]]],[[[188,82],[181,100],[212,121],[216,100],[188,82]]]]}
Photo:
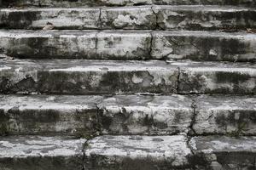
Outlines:
{"type": "Polygon", "coordinates": [[[255,137],[100,136],[85,147],[88,170],[253,169],[255,137]],[[192,151],[191,151],[191,150],[192,151]]]}

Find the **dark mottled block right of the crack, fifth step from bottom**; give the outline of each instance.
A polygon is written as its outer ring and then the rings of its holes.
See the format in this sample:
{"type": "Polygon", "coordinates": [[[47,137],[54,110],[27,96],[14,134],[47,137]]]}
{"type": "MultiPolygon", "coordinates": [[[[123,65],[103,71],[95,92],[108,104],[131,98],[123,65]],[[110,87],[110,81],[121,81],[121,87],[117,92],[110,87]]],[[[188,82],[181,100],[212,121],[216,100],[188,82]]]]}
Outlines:
{"type": "Polygon", "coordinates": [[[154,6],[163,30],[218,30],[256,27],[256,9],[225,6],[154,6]]]}

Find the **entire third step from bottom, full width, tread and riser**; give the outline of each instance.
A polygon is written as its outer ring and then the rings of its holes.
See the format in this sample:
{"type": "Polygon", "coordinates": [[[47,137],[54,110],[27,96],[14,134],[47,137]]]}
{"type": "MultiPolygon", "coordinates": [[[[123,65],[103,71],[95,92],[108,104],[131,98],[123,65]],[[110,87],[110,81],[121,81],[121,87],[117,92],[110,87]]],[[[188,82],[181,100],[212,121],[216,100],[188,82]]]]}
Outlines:
{"type": "Polygon", "coordinates": [[[247,63],[0,60],[2,94],[256,94],[247,63]]]}

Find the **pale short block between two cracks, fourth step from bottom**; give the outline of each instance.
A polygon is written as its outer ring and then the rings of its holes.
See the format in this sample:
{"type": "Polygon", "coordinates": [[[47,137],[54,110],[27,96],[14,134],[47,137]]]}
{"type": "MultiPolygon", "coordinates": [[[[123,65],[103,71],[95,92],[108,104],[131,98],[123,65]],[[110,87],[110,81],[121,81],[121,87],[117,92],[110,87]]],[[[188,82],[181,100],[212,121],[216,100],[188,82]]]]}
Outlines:
{"type": "Polygon", "coordinates": [[[150,59],[149,31],[102,31],[96,40],[97,59],[150,59]]]}

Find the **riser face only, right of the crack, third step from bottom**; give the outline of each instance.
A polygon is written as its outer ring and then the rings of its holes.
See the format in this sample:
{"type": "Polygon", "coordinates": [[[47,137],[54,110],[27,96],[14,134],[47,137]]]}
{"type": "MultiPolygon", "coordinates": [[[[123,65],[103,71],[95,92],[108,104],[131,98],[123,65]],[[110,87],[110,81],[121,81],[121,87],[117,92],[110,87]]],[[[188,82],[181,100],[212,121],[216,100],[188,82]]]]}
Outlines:
{"type": "Polygon", "coordinates": [[[256,70],[211,71],[182,68],[179,94],[256,94],[256,70]]]}

